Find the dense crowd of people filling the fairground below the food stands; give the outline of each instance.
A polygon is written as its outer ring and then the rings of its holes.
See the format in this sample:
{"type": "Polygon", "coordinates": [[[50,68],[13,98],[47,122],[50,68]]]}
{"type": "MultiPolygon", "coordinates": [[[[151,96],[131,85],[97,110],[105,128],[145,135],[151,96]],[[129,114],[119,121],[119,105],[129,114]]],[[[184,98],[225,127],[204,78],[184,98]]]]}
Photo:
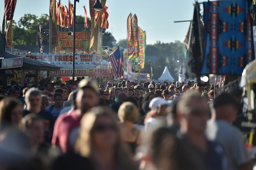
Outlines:
{"type": "Polygon", "coordinates": [[[0,169],[252,169],[239,89],[186,82],[0,89],[0,169]]]}

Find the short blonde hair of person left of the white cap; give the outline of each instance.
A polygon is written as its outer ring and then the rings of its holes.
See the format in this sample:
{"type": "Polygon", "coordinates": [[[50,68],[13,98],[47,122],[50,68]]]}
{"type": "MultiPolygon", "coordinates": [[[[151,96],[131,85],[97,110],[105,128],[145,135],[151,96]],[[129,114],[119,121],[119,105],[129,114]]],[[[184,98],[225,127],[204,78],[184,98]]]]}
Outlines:
{"type": "Polygon", "coordinates": [[[118,109],[118,117],[120,120],[138,123],[139,110],[132,102],[124,102],[118,109]]]}

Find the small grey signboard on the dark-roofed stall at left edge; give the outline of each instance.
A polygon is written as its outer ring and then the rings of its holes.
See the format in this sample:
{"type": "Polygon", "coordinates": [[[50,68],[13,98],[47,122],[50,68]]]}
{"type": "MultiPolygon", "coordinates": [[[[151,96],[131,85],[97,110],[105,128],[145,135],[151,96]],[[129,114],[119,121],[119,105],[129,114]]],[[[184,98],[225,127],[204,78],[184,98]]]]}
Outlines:
{"type": "Polygon", "coordinates": [[[22,67],[23,62],[24,62],[23,57],[5,58],[5,59],[2,59],[1,69],[22,67]]]}

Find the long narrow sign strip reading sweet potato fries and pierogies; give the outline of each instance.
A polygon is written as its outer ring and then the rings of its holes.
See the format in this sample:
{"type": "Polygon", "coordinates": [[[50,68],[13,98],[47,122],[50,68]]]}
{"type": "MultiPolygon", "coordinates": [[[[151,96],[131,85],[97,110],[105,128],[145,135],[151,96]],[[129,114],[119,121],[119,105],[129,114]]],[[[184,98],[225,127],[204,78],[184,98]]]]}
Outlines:
{"type": "MultiPolygon", "coordinates": [[[[61,68],[59,71],[52,71],[53,77],[72,77],[73,69],[61,68]]],[[[114,71],[112,68],[76,68],[77,77],[112,77],[114,71]]]]}

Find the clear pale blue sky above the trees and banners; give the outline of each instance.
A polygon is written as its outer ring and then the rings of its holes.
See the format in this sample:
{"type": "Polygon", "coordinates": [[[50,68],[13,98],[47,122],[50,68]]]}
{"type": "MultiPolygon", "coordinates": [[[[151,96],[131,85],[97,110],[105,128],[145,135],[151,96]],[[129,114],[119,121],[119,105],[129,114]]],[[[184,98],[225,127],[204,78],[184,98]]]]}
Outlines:
{"type": "MultiPolygon", "coordinates": [[[[57,0],[58,1],[58,0],[57,0]]],[[[68,6],[68,0],[60,0],[61,4],[68,6]]],[[[206,0],[205,0],[206,1],[206,0]]],[[[14,12],[14,20],[24,14],[37,16],[49,14],[49,0],[18,0],[14,12]],[[48,3],[47,3],[48,2],[48,3]]],[[[179,20],[189,20],[193,17],[194,0],[106,0],[109,13],[109,29],[117,41],[127,36],[126,21],[130,13],[136,14],[138,26],[146,31],[146,43],[154,44],[156,41],[174,42],[183,41],[189,22],[174,23],[179,20]]],[[[202,0],[198,1],[202,2],[202,0]]],[[[73,4],[74,1],[71,0],[73,4]]],[[[76,15],[84,16],[83,6],[89,12],[89,0],[80,0],[76,3],[76,15]]],[[[4,14],[4,1],[0,4],[0,16],[4,14]]],[[[2,26],[2,17],[0,18],[2,26]]]]}

